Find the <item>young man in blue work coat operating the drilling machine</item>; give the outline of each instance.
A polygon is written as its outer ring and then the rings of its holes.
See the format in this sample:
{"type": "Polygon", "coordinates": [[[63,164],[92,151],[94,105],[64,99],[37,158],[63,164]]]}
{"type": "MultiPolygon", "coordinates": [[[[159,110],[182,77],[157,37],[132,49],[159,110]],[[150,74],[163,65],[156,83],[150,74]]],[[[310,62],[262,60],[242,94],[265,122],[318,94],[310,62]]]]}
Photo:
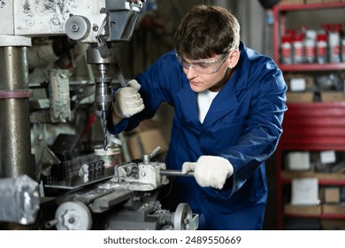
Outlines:
{"type": "MultiPolygon", "coordinates": [[[[246,48],[234,15],[197,5],[181,20],[174,50],[118,89],[111,133],[137,127],[162,103],[174,107],[166,167],[177,177],[162,202],[188,203],[199,229],[262,229],[265,160],[275,151],[287,86],[271,58],[246,48]]],[[[108,121],[111,122],[111,121],[108,121]]]]}

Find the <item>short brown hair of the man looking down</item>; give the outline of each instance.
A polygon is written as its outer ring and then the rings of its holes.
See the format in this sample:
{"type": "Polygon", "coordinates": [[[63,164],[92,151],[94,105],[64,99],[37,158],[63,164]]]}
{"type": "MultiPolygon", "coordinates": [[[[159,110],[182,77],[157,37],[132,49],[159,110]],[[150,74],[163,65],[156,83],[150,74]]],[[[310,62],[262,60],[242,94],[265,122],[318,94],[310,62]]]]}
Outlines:
{"type": "Polygon", "coordinates": [[[211,58],[238,48],[240,25],[234,15],[220,6],[196,5],[177,27],[173,46],[182,58],[211,58]]]}

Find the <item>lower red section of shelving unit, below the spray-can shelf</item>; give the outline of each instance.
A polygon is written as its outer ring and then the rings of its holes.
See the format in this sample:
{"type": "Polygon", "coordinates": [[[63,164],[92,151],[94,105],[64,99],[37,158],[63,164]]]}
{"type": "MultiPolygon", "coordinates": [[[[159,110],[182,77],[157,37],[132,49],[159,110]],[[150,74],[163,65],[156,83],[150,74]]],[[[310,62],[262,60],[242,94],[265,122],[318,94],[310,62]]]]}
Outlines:
{"type": "Polygon", "coordinates": [[[288,104],[283,130],[276,151],[279,229],[284,229],[286,218],[345,220],[345,206],[343,213],[284,213],[288,202],[282,196],[294,178],[317,177],[320,186],[345,186],[345,174],[291,172],[283,165],[283,154],[288,151],[345,152],[345,102],[288,104]]]}

